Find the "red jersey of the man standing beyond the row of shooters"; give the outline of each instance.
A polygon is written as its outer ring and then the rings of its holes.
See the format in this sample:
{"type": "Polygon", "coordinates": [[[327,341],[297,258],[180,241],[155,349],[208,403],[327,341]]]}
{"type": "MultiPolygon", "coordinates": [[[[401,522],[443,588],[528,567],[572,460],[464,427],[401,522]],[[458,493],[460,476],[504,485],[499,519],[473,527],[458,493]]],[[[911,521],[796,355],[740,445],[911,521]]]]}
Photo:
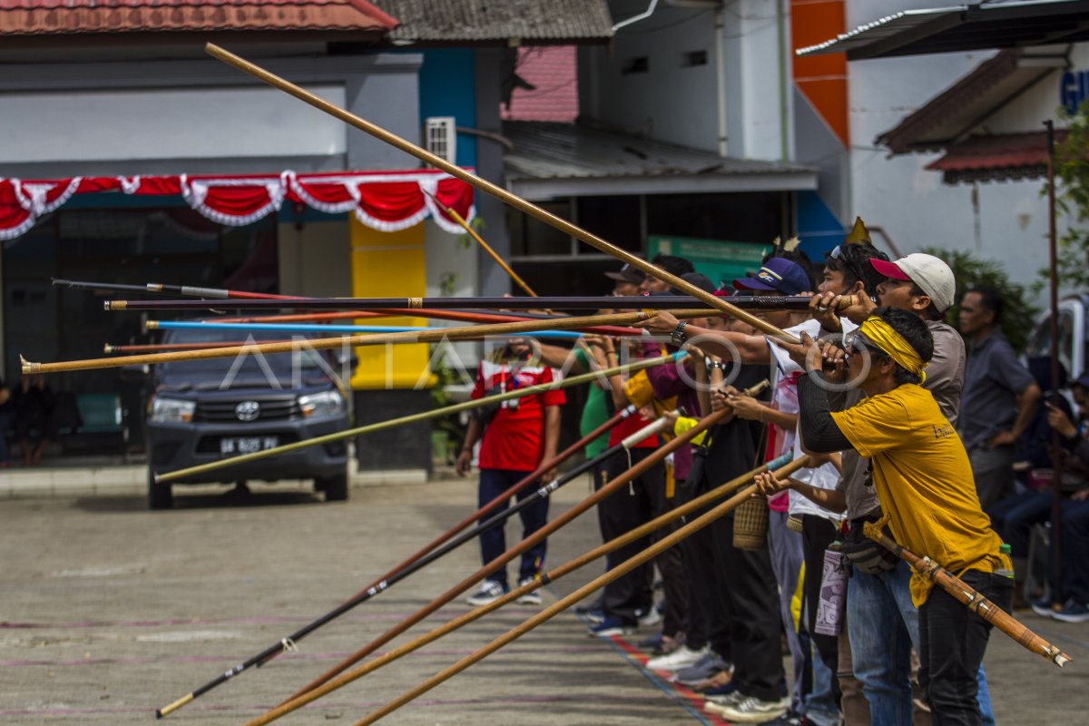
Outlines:
{"type": "MultiPolygon", "coordinates": [[[[493,364],[481,360],[477,369],[473,398],[529,385],[551,383],[547,366],[493,364]]],[[[567,402],[563,391],[546,391],[505,401],[484,430],[477,464],[481,469],[533,471],[544,456],[544,408],[567,402]]]]}

